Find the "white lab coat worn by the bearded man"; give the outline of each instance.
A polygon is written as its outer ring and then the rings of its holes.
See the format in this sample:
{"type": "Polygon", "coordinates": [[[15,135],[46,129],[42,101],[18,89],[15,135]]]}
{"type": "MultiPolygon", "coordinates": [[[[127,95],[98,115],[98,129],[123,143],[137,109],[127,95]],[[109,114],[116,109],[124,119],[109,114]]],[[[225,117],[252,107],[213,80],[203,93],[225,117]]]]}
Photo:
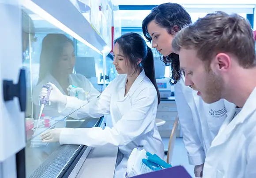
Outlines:
{"type": "Polygon", "coordinates": [[[208,150],[203,178],[256,178],[256,88],[224,121],[208,150]],[[232,120],[233,119],[233,120],[232,120]]]}

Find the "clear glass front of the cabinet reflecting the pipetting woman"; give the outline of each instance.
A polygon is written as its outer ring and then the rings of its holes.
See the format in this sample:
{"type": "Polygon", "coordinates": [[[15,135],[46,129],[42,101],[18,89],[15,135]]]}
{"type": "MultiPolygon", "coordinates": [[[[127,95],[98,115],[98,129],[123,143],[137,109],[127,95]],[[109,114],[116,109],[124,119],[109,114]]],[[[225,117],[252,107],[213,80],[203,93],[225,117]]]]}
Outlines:
{"type": "Polygon", "coordinates": [[[98,70],[103,69],[102,56],[25,8],[22,26],[23,67],[27,72],[26,176],[38,178],[42,165],[63,148],[59,143],[43,144],[39,135],[41,132],[56,127],[94,127],[98,121],[93,118],[76,120],[61,115],[57,106],[50,103],[45,106],[41,122],[38,124],[39,94],[42,86],[50,82],[58,87],[62,94],[90,102],[103,90],[96,75],[96,66],[98,70]],[[79,57],[77,44],[83,48],[83,54],[79,57]],[[99,88],[99,91],[96,88],[99,88]],[[81,91],[79,94],[74,92],[77,89],[81,91]],[[37,124],[38,130],[35,129],[37,124]]]}

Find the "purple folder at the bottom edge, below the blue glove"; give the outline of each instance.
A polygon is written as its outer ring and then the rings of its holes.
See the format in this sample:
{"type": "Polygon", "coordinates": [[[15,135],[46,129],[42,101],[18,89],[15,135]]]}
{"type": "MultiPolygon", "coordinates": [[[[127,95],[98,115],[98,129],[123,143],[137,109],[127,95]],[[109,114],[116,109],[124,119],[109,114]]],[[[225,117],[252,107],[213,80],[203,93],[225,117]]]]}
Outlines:
{"type": "Polygon", "coordinates": [[[170,167],[160,171],[137,175],[132,178],[192,178],[183,166],[170,167]]]}

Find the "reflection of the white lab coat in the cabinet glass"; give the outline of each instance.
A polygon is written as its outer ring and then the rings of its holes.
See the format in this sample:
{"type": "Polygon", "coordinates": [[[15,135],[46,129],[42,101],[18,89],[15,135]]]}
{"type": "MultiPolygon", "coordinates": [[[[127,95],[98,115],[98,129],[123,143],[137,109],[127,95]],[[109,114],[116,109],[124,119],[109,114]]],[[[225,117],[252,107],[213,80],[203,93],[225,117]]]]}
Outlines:
{"type": "MultiPolygon", "coordinates": [[[[90,98],[88,99],[89,102],[100,94],[100,92],[94,88],[94,86],[90,83],[90,81],[81,74],[72,73],[68,76],[68,80],[71,85],[74,85],[76,87],[81,87],[85,92],[89,92],[90,94],[90,98]]],[[[54,84],[61,91],[62,94],[66,95],[62,87],[60,87],[60,84],[57,82],[57,80],[52,75],[47,74],[45,79],[42,80],[36,87],[33,88],[33,103],[35,106],[34,110],[36,111],[35,112],[36,114],[39,114],[39,111],[40,111],[39,95],[40,95],[40,92],[42,91],[42,86],[44,84],[47,84],[48,82],[54,84]]],[[[56,106],[53,103],[51,103],[51,105],[46,105],[43,113],[45,114],[45,116],[51,116],[51,117],[64,116],[58,113],[56,106]]],[[[74,119],[76,118],[74,117],[74,119]]]]}

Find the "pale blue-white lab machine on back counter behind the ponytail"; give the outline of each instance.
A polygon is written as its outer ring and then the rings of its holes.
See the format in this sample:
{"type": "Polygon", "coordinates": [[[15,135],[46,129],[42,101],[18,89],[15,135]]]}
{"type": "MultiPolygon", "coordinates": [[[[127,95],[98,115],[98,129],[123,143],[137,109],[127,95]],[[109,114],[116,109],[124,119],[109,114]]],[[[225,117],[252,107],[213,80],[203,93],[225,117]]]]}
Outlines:
{"type": "Polygon", "coordinates": [[[171,84],[169,78],[156,78],[160,98],[169,98],[171,96],[171,84]]]}

